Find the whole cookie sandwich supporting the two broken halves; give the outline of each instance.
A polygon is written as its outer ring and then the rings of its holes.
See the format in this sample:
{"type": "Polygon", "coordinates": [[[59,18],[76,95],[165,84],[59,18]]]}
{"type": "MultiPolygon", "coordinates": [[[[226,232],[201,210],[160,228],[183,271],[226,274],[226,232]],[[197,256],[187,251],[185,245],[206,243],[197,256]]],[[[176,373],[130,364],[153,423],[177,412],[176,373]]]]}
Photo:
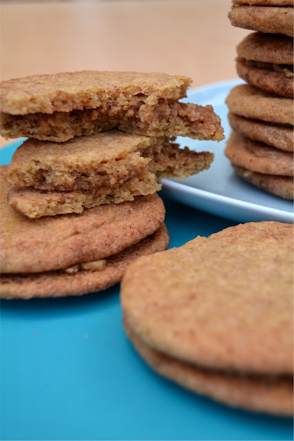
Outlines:
{"type": "Polygon", "coordinates": [[[165,249],[169,234],[157,194],[83,214],[30,219],[7,203],[1,181],[1,298],[81,295],[117,283],[138,256],[165,249]]]}

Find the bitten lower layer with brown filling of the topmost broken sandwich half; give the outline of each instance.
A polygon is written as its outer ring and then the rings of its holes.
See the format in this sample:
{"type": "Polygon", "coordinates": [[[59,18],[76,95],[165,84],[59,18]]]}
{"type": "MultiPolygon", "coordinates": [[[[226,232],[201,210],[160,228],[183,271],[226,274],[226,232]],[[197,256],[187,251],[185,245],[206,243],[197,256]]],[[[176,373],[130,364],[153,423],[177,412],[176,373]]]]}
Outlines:
{"type": "Polygon", "coordinates": [[[89,136],[112,128],[147,136],[189,136],[192,139],[224,139],[220,118],[211,105],[174,103],[165,99],[156,105],[101,106],[96,109],[1,114],[1,135],[8,138],[28,136],[41,141],[67,141],[74,136],[89,136]]]}

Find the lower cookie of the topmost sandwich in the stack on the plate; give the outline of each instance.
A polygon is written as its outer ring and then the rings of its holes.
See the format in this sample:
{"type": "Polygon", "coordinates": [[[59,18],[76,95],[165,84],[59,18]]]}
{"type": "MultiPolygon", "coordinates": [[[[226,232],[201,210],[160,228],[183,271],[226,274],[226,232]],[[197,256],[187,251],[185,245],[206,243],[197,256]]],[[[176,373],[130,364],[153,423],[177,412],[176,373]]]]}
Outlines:
{"type": "Polygon", "coordinates": [[[229,19],[238,28],[293,37],[293,8],[288,6],[233,5],[229,19]]]}

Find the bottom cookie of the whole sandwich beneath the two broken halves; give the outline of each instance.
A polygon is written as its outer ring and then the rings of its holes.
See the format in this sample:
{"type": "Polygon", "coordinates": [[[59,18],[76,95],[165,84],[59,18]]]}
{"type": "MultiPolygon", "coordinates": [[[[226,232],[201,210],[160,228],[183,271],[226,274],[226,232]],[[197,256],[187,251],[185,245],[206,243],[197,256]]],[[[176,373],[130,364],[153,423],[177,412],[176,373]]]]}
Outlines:
{"type": "Polygon", "coordinates": [[[119,282],[127,267],[136,258],[162,251],[167,245],[169,245],[169,233],[163,224],[151,236],[101,261],[102,269],[70,268],[72,271],[3,274],[0,281],[0,298],[27,300],[35,297],[81,296],[81,294],[101,291],[119,282]]]}

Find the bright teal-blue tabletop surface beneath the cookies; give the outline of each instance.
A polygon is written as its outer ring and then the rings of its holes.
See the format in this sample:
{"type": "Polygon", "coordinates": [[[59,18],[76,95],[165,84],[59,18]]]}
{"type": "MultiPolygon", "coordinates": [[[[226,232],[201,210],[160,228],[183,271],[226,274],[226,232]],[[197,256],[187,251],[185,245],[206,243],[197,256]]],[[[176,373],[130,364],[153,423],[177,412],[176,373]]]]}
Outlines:
{"type": "MultiPolygon", "coordinates": [[[[17,143],[1,150],[10,161],[17,143]]],[[[235,225],[165,200],[170,247],[235,225]]],[[[119,285],[78,298],[1,301],[1,440],[292,440],[291,418],[190,393],[140,359],[119,285]]]]}

